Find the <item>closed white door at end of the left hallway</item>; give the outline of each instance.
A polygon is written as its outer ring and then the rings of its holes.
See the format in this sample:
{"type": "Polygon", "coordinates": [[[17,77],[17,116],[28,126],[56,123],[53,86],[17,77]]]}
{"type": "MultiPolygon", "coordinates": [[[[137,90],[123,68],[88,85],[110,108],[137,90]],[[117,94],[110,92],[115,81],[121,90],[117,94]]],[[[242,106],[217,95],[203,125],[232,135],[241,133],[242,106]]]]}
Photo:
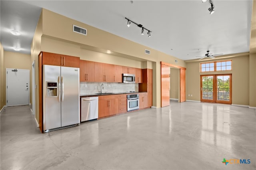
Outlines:
{"type": "Polygon", "coordinates": [[[29,70],[6,69],[6,105],[29,104],[29,70]]]}

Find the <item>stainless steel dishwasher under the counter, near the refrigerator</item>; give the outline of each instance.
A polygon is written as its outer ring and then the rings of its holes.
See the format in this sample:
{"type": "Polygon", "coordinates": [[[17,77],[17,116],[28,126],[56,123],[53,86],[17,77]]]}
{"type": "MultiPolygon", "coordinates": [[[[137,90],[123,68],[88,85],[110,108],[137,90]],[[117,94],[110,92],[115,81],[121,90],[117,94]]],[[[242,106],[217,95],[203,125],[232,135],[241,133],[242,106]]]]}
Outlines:
{"type": "Polygon", "coordinates": [[[98,97],[81,98],[81,122],[98,119],[98,97]]]}

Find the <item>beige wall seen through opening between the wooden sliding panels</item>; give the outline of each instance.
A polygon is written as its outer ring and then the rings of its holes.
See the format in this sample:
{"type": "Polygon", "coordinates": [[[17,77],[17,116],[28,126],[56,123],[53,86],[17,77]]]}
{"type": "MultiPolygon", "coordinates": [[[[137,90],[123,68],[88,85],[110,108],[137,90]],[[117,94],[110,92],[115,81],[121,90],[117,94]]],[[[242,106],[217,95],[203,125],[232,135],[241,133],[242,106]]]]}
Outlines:
{"type": "Polygon", "coordinates": [[[180,69],[170,68],[170,99],[179,99],[180,69]]]}

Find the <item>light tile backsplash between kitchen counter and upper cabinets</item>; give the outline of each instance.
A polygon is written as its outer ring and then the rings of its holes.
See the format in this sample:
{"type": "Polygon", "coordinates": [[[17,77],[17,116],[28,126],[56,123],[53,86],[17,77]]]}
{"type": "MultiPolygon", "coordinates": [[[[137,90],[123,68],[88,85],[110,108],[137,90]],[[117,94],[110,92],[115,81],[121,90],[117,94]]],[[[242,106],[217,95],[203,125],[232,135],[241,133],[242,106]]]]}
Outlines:
{"type": "MultiPolygon", "coordinates": [[[[80,82],[80,94],[99,93],[102,83],[80,82]]],[[[138,83],[103,83],[102,93],[139,91],[138,83]]]]}

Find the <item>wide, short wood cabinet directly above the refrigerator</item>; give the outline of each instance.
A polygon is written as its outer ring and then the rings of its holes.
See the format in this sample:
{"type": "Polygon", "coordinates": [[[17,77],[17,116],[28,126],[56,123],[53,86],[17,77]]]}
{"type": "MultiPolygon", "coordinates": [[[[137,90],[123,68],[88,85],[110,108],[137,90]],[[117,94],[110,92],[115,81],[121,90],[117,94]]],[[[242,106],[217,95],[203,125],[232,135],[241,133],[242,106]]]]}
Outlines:
{"type": "Polygon", "coordinates": [[[43,65],[58,65],[65,67],[80,67],[80,57],[42,52],[43,65]]]}

